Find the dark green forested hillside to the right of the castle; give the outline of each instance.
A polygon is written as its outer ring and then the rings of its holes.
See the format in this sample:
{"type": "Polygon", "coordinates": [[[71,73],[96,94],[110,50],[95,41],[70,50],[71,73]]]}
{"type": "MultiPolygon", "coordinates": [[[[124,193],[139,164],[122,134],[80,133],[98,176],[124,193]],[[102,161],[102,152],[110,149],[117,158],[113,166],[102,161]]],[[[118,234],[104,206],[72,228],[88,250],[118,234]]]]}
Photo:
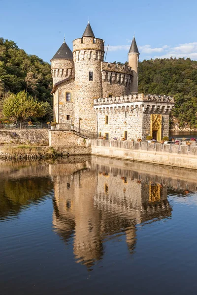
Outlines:
{"type": "Polygon", "coordinates": [[[151,59],[139,62],[139,93],[175,97],[172,120],[180,127],[197,127],[197,61],[151,59]]]}

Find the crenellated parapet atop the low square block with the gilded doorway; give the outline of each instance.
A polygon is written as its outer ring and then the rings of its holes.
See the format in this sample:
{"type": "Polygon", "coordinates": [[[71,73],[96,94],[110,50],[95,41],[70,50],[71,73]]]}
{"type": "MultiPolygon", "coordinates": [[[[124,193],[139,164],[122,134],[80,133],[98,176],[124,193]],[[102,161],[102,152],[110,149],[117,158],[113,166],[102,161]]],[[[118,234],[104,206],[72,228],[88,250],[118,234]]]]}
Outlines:
{"type": "Polygon", "coordinates": [[[154,94],[131,94],[119,97],[106,97],[94,99],[94,105],[106,105],[106,104],[117,104],[125,102],[156,102],[156,103],[172,103],[174,104],[174,98],[166,95],[154,95],[154,94]]]}

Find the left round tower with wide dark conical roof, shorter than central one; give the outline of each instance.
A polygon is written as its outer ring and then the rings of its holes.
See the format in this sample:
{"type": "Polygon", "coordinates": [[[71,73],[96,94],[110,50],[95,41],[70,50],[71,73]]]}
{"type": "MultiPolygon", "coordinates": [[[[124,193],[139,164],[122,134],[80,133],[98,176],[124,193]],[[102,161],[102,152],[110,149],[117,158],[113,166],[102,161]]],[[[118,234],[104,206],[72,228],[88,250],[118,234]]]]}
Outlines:
{"type": "Polygon", "coordinates": [[[51,61],[53,85],[70,76],[74,76],[74,62],[72,52],[65,40],[51,61]]]}

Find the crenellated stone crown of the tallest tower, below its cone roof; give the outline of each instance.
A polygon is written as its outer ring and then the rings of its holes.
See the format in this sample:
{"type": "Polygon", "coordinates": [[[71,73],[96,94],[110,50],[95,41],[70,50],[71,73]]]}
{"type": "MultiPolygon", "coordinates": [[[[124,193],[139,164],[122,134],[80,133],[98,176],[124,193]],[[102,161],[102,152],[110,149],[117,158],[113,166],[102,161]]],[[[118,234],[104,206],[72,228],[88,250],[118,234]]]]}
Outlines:
{"type": "Polygon", "coordinates": [[[95,50],[104,53],[104,40],[99,38],[79,38],[73,41],[73,53],[78,50],[95,50]]]}

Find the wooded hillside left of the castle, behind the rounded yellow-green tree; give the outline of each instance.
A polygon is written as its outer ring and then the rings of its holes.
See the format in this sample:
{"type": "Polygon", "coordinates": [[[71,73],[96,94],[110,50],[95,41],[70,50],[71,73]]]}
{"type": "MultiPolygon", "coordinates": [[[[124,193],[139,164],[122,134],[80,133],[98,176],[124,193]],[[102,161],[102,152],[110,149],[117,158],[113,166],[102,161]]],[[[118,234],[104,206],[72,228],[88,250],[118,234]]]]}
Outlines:
{"type": "Polygon", "coordinates": [[[28,55],[15,42],[0,38],[0,109],[8,91],[23,90],[52,106],[51,89],[51,65],[35,55],[28,55]]]}

